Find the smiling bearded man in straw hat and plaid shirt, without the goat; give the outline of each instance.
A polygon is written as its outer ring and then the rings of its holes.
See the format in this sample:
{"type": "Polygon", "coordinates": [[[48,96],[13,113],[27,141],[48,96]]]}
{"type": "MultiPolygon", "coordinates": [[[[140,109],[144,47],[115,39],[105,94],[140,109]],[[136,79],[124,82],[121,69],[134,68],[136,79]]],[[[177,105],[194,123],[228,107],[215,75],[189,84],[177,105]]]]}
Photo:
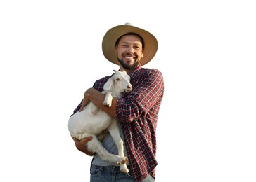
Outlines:
{"type": "MultiPolygon", "coordinates": [[[[74,113],[82,111],[88,102],[120,121],[120,133],[124,140],[124,152],[128,157],[129,174],[120,172],[118,165],[103,161],[87,150],[91,137],[81,141],[74,139],[79,151],[94,155],[91,162],[91,182],[98,181],[155,181],[156,127],[158,112],[164,94],[162,73],[157,69],[142,68],[153,59],[158,50],[158,41],[144,29],[130,24],[118,25],[108,30],[102,42],[103,55],[108,61],[117,64],[120,71],[127,71],[131,77],[133,90],[124,93],[122,98],[113,98],[112,106],[103,105],[105,95],[103,85],[110,78],[97,80],[92,88],[84,93],[84,99],[74,113]]],[[[103,146],[113,154],[117,147],[106,134],[103,146]]]]}

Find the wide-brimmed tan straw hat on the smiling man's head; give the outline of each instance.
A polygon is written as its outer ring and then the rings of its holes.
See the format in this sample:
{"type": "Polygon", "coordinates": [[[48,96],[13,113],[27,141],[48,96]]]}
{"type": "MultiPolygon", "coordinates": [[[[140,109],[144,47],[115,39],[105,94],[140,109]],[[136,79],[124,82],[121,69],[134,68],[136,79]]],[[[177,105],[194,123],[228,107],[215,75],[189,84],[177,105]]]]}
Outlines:
{"type": "Polygon", "coordinates": [[[126,23],[125,25],[117,25],[105,33],[102,41],[102,51],[105,58],[114,64],[119,64],[117,61],[117,55],[115,55],[115,42],[120,38],[120,36],[127,33],[139,34],[143,38],[144,49],[143,57],[141,58],[141,65],[150,62],[158,50],[157,39],[148,31],[134,27],[129,23],[126,23]]]}

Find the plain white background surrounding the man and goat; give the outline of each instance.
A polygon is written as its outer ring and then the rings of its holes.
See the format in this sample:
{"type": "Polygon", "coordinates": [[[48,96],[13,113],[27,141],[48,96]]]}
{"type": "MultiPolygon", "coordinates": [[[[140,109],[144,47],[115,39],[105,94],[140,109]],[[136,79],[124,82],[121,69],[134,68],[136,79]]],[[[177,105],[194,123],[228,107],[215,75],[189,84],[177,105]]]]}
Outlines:
{"type": "Polygon", "coordinates": [[[1,1],[0,181],[89,181],[68,118],[118,69],[101,51],[131,22],[159,49],[156,182],[256,181],[254,1],[1,1]]]}

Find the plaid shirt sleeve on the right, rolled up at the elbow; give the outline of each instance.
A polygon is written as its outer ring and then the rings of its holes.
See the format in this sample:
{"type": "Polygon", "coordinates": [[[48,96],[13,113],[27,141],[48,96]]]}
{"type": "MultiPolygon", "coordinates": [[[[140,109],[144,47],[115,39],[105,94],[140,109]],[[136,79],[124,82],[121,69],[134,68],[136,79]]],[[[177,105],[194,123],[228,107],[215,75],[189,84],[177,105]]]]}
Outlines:
{"type": "Polygon", "coordinates": [[[133,91],[117,99],[116,117],[123,123],[146,117],[158,105],[163,96],[162,73],[157,69],[145,69],[134,80],[133,91]],[[135,86],[134,86],[135,85],[135,86]]]}

